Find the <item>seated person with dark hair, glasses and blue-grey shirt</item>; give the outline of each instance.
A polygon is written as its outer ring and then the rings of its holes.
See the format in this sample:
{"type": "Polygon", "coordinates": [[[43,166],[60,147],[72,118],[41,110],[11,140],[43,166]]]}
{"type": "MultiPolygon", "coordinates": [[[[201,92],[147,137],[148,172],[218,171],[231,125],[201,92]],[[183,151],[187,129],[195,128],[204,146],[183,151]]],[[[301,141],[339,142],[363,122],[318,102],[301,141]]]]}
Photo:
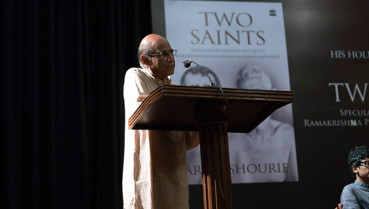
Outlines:
{"type": "Polygon", "coordinates": [[[369,148],[363,145],[351,149],[348,167],[355,182],[342,190],[342,209],[369,209],[369,148]]]}

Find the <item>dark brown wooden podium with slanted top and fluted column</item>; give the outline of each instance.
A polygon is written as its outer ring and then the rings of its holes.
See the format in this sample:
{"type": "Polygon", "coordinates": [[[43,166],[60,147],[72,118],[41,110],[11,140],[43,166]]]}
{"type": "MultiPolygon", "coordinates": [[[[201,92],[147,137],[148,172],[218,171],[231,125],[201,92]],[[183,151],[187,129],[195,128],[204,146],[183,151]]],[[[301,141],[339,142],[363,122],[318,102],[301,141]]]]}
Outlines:
{"type": "Polygon", "coordinates": [[[277,108],[293,101],[290,91],[162,85],[128,120],[129,129],[199,131],[204,209],[232,209],[228,132],[248,133],[277,108]]]}

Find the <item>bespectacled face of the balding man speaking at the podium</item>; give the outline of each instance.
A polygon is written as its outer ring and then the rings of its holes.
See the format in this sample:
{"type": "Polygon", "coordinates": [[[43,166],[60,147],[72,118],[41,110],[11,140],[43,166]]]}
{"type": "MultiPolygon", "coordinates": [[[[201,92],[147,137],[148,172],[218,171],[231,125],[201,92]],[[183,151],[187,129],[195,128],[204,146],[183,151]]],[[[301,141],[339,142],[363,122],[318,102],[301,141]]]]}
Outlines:
{"type": "MultiPolygon", "coordinates": [[[[153,48],[153,54],[160,54],[162,51],[169,52],[172,49],[168,41],[163,39],[156,40],[153,44],[153,48]]],[[[160,80],[166,76],[172,75],[174,73],[175,65],[174,56],[170,53],[166,59],[161,59],[160,56],[151,56],[151,59],[148,60],[151,74],[160,80]]]]}

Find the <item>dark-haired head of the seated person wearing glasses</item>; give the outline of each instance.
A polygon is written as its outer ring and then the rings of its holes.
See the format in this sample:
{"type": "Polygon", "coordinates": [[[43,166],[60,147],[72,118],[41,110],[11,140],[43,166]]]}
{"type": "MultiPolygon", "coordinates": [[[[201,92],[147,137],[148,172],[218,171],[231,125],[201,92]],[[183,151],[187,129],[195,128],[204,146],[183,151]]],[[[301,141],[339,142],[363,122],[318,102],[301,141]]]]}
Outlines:
{"type": "Polygon", "coordinates": [[[348,155],[348,166],[353,177],[356,179],[363,178],[365,182],[369,182],[369,162],[367,164],[363,163],[369,161],[369,148],[367,146],[356,146],[351,149],[348,155]]]}

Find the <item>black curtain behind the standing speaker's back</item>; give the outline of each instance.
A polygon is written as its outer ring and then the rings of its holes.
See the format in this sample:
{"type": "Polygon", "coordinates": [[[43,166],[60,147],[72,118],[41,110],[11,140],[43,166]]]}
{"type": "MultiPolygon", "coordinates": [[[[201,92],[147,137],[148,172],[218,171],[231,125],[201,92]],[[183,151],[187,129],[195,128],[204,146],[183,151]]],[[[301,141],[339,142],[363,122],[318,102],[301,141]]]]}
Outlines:
{"type": "Polygon", "coordinates": [[[123,78],[149,0],[2,0],[1,208],[121,209],[123,78]]]}

